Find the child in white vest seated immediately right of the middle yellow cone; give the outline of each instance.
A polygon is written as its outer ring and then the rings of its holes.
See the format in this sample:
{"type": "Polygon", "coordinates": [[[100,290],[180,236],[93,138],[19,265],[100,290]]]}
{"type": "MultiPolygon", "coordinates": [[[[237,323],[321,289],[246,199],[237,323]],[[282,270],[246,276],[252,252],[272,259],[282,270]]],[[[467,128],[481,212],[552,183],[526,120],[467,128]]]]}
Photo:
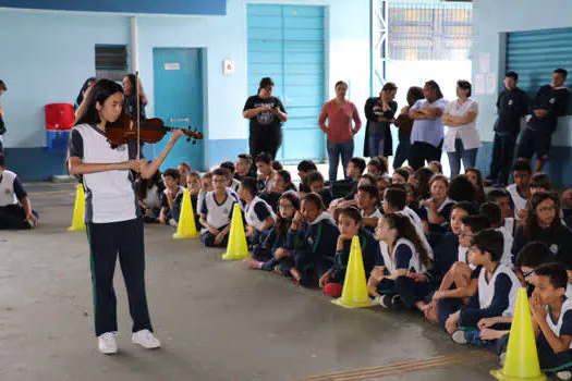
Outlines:
{"type": "Polygon", "coordinates": [[[239,198],[244,201],[246,238],[251,245],[258,244],[263,233],[275,225],[276,214],[265,200],[256,196],[256,180],[253,177],[241,180],[239,198]]]}

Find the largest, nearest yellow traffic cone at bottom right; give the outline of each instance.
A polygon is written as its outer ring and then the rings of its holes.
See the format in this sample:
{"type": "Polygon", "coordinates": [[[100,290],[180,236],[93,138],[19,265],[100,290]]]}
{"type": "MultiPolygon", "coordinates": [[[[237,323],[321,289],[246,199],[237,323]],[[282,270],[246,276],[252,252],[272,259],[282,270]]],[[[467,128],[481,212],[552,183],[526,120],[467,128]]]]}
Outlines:
{"type": "Polygon", "coordinates": [[[497,380],[519,381],[519,380],[546,380],[546,376],[540,372],[536,340],[534,337],[533,321],[526,288],[519,290],[514,319],[510,329],[509,346],[504,367],[491,370],[497,380]]]}

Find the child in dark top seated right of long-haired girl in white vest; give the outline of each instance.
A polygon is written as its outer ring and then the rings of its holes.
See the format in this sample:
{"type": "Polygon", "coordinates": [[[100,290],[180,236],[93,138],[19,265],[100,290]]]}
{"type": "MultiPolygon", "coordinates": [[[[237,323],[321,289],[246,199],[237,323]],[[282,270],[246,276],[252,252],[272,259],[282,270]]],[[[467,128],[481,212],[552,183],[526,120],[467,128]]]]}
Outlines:
{"type": "MultiPolygon", "coordinates": [[[[451,231],[447,232],[434,250],[434,266],[423,274],[410,274],[411,278],[417,282],[427,282],[431,288],[438,288],[438,291],[446,291],[451,288],[452,283],[450,281],[443,282],[447,274],[449,278],[454,278],[453,273],[449,272],[453,265],[459,260],[459,235],[463,226],[462,220],[467,216],[476,213],[476,208],[473,202],[461,201],[457,202],[451,211],[450,226],[451,231]]],[[[438,297],[429,295],[426,298],[426,306],[423,307],[423,314],[425,318],[433,322],[438,323],[439,318],[437,315],[437,303],[438,297]]],[[[445,324],[445,318],[441,319],[441,324],[445,324]]],[[[443,325],[445,327],[445,325],[443,325]]]]}

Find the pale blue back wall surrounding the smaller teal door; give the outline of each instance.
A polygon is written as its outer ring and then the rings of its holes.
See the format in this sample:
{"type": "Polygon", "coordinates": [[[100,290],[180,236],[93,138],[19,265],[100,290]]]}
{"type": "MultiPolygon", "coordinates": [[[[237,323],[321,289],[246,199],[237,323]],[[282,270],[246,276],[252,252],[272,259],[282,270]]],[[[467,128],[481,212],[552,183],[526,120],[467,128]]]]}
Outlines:
{"type": "MultiPolygon", "coordinates": [[[[149,116],[154,114],[153,48],[204,48],[207,167],[233,160],[247,149],[247,121],[242,118],[248,96],[247,2],[281,3],[229,0],[226,16],[137,17],[139,73],[149,96],[149,116]],[[226,59],[235,62],[233,75],[222,73],[226,59]]],[[[350,99],[362,110],[369,96],[369,23],[364,22],[369,17],[369,1],[288,3],[327,7],[327,95],[333,97],[337,81],[346,81],[350,99]]],[[[8,165],[25,180],[62,174],[64,158],[49,155],[45,148],[44,106],[74,101],[85,78],[95,74],[96,44],[131,44],[130,17],[0,9],[0,25],[10,30],[0,35],[0,78],[8,85],[2,97],[9,128],[4,135],[8,165]]],[[[358,135],[363,142],[362,136],[363,132],[358,135]]],[[[361,149],[356,150],[360,153],[361,149]]]]}

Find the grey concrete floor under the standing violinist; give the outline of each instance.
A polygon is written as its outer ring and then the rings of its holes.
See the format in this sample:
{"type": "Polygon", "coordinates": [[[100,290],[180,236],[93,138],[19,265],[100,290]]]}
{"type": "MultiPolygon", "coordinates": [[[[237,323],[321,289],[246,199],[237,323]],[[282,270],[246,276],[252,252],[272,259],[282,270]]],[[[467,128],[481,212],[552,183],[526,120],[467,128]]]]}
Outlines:
{"type": "MultiPolygon", "coordinates": [[[[118,269],[120,354],[102,356],[93,336],[86,237],[65,232],[73,186],[28,190],[40,226],[0,232],[0,380],[294,380],[474,351],[413,314],[344,310],[317,291],[223,262],[220,249],[173,241],[169,226],[148,225],[147,292],[163,347],[131,344],[118,269]]],[[[407,367],[369,379],[485,380],[496,367],[483,354],[449,368],[407,367]]]]}

